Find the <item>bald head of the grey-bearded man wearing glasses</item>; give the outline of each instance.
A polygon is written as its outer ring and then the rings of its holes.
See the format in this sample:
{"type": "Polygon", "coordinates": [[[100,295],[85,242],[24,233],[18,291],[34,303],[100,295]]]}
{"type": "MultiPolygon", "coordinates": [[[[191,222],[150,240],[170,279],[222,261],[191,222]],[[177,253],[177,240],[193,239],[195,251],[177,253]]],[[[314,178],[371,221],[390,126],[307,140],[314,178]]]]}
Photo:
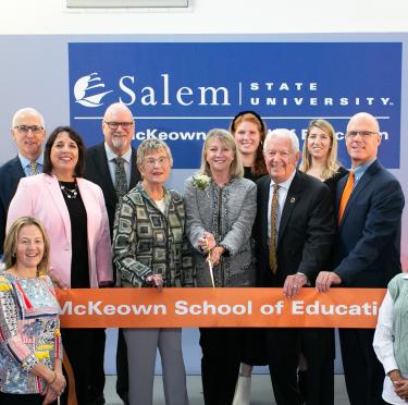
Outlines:
{"type": "Polygon", "coordinates": [[[102,132],[104,142],[114,154],[126,154],[135,133],[132,111],[121,102],[109,106],[103,115],[102,132]]]}

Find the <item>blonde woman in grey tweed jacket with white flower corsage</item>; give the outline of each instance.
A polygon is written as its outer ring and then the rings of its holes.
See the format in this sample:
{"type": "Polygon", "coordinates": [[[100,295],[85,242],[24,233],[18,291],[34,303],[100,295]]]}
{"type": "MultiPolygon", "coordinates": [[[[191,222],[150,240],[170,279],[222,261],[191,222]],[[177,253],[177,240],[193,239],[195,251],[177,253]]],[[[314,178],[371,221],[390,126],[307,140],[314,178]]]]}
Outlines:
{"type": "MultiPolygon", "coordinates": [[[[244,179],[239,151],[225,130],[211,130],[199,175],[187,179],[187,236],[194,247],[197,285],[255,286],[251,231],[257,186],[244,179]],[[208,255],[213,266],[213,282],[208,255]]],[[[238,378],[243,331],[201,328],[201,377],[206,404],[231,404],[238,378]]]]}

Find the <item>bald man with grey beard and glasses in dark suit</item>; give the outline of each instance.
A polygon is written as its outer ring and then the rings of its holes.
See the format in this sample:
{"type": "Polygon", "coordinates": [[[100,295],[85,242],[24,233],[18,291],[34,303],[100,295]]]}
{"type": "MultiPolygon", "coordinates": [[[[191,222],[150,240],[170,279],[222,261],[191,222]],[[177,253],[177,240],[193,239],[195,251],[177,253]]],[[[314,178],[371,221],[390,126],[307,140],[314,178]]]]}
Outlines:
{"type": "MultiPolygon", "coordinates": [[[[103,192],[107,205],[109,228],[112,237],[113,220],[119,198],[135,187],[140,179],[136,167],[136,150],[131,143],[135,134],[135,121],[132,111],[123,103],[108,107],[102,121],[104,142],[92,146],[87,151],[86,179],[98,184],[103,192]]],[[[118,284],[120,280],[118,280],[118,284]]],[[[90,388],[89,404],[104,403],[103,353],[104,331],[95,342],[94,386],[90,388]]],[[[122,330],[119,330],[116,353],[116,392],[125,404],[128,403],[127,353],[122,330]]]]}

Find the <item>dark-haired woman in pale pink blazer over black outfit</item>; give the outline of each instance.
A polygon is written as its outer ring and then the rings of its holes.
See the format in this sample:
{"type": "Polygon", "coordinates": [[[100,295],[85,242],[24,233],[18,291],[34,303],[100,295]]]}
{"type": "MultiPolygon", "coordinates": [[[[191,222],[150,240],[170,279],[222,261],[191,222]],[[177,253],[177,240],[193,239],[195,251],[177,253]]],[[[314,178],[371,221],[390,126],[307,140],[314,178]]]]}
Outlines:
{"type": "MultiPolygon", "coordinates": [[[[44,173],[20,181],[8,213],[8,228],[20,217],[37,218],[50,238],[52,274],[71,289],[112,282],[108,213],[100,187],[82,179],[85,147],[70,126],[50,135],[44,173]]],[[[75,377],[78,404],[87,403],[95,329],[62,329],[62,341],[75,377]]]]}

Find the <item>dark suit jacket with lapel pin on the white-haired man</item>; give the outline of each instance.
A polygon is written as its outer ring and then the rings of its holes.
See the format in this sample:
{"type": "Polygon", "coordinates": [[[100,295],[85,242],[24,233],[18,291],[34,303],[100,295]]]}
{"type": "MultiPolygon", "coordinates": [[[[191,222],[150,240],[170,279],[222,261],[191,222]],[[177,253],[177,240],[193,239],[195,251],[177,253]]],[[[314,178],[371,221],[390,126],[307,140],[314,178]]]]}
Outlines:
{"type": "Polygon", "coordinates": [[[283,286],[297,271],[314,282],[324,270],[334,240],[333,202],[329,187],[319,180],[296,171],[288,189],[277,234],[277,270],[269,266],[268,202],[271,177],[257,182],[258,204],[254,225],[259,286],[283,286]]]}

